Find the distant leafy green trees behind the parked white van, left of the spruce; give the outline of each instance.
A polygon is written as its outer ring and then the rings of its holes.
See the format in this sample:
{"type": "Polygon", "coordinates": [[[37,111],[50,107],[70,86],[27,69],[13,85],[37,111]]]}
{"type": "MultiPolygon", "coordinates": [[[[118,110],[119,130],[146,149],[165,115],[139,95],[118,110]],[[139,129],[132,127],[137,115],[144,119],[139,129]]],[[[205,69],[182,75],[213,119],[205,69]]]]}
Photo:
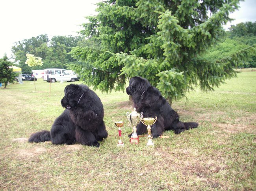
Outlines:
{"type": "Polygon", "coordinates": [[[13,58],[19,63],[22,73],[31,73],[31,68],[25,64],[27,53],[44,60],[43,65],[39,65],[34,69],[66,68],[65,64],[76,62],[68,53],[71,47],[78,45],[80,40],[82,38],[79,36],[54,36],[52,39],[49,39],[48,35],[24,39],[15,42],[15,45],[12,47],[13,58]]]}

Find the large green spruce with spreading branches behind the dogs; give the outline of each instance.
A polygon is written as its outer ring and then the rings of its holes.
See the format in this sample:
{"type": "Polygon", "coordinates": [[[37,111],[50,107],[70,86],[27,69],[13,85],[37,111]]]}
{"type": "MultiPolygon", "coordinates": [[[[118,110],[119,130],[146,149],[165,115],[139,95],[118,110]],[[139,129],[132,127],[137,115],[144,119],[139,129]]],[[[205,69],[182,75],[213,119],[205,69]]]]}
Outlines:
{"type": "Polygon", "coordinates": [[[239,0],[106,0],[80,33],[93,44],[75,47],[81,61],[70,69],[102,91],[124,90],[126,77],[142,76],[171,101],[200,85],[213,90],[236,76],[233,67],[255,51],[254,46],[221,59],[201,56],[215,45],[222,25],[239,0]],[[210,13],[210,14],[209,14],[210,13]],[[211,15],[209,17],[209,15],[211,15]]]}

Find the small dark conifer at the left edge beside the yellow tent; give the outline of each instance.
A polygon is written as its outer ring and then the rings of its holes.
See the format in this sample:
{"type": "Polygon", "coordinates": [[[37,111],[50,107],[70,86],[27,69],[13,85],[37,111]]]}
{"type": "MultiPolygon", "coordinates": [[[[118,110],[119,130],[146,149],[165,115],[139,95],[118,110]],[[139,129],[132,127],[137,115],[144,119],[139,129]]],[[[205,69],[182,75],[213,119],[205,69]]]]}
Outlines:
{"type": "Polygon", "coordinates": [[[13,63],[8,60],[6,54],[0,59],[0,82],[4,84],[4,88],[6,88],[8,82],[13,82],[19,75],[10,68],[12,65],[13,63]]]}

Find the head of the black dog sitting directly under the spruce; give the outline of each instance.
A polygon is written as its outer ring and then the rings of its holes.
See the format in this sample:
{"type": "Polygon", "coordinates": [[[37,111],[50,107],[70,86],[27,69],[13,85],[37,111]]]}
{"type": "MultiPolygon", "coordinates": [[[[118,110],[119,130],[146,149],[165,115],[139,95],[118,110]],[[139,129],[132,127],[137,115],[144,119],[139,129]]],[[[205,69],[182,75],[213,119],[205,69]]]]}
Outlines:
{"type": "Polygon", "coordinates": [[[151,84],[148,82],[148,80],[135,76],[130,79],[129,86],[126,88],[126,93],[128,95],[134,95],[136,92],[142,93],[150,86],[151,84]]]}

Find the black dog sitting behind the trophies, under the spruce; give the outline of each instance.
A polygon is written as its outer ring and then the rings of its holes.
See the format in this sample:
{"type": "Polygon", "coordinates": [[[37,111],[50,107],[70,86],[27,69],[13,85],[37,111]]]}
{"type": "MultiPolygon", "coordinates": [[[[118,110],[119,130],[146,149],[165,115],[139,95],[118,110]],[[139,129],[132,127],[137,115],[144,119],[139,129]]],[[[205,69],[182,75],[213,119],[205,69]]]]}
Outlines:
{"type": "MultiPolygon", "coordinates": [[[[198,126],[196,122],[181,122],[178,113],[171,108],[160,91],[145,78],[138,76],[131,78],[126,93],[132,95],[134,107],[137,112],[143,112],[143,117],[157,116],[156,123],[151,128],[153,138],[161,136],[165,130],[172,129],[174,133],[179,134],[198,126]]],[[[144,133],[147,133],[147,127],[140,123],[137,125],[137,135],[144,133]]]]}

